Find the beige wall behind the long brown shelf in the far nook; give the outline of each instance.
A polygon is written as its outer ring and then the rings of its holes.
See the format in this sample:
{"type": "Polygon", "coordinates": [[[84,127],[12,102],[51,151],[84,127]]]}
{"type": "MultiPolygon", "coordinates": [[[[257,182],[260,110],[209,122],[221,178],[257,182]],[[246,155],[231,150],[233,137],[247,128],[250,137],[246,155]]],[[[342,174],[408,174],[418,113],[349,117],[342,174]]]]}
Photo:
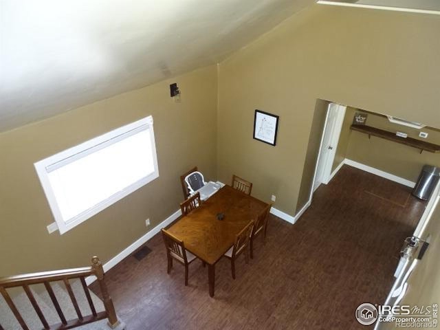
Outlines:
{"type": "MultiPolygon", "coordinates": [[[[368,114],[366,124],[384,129],[385,131],[404,132],[408,134],[408,137],[440,144],[440,132],[427,127],[421,130],[412,129],[407,126],[393,124],[389,122],[387,118],[372,113],[368,114]],[[420,131],[428,133],[428,138],[421,139],[421,137],[419,137],[420,131]]],[[[424,164],[440,166],[439,153],[423,151],[423,153],[420,154],[417,148],[384,140],[380,137],[372,136],[371,139],[369,139],[368,135],[358,131],[353,131],[350,135],[346,157],[355,162],[384,170],[387,173],[403,177],[413,182],[417,181],[417,177],[419,177],[419,173],[424,164]]]]}

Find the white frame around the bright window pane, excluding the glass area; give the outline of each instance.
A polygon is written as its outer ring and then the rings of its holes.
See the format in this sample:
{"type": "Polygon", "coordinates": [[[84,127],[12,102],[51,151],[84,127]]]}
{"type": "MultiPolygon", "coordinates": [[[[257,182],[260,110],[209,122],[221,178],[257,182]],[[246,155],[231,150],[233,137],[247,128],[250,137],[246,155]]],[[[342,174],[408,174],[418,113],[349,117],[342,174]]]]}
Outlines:
{"type": "Polygon", "coordinates": [[[126,124],[122,127],[119,127],[118,129],[114,129],[113,131],[109,131],[108,133],[99,135],[98,137],[93,137],[86,142],[78,144],[77,146],[73,146],[72,148],[68,148],[65,151],[61,151],[60,153],[56,153],[55,155],[52,155],[50,157],[40,160],[39,162],[34,163],[34,167],[40,179],[41,186],[43,187],[43,190],[45,192],[47,202],[49,203],[50,210],[52,211],[52,215],[54,216],[54,220],[58,226],[58,230],[60,234],[64,234],[65,232],[71,230],[72,228],[75,228],[80,223],[83,223],[87,219],[90,219],[91,217],[98,214],[105,208],[108,208],[109,206],[113,205],[117,201],[120,201],[122,198],[131,194],[135,190],[141,188],[142,186],[145,186],[149,182],[159,177],[159,168],[157,166],[157,151],[156,151],[156,143],[155,143],[154,128],[153,128],[153,116],[149,115],[146,118],[142,118],[141,120],[137,120],[136,122],[126,124]],[[100,145],[102,144],[105,144],[105,146],[109,146],[121,140],[124,140],[124,138],[126,137],[132,136],[133,131],[137,131],[136,133],[140,131],[144,131],[144,129],[142,129],[144,126],[146,127],[145,130],[148,130],[150,133],[151,152],[153,154],[153,166],[154,166],[153,173],[138,181],[135,181],[130,186],[127,186],[126,188],[118,192],[115,192],[115,194],[111,195],[107,199],[104,199],[103,201],[100,201],[92,208],[89,208],[81,212],[76,217],[69,219],[69,221],[65,221],[65,219],[63,219],[63,215],[61,214],[61,210],[58,207],[58,201],[54,194],[54,190],[52,189],[52,185],[50,184],[50,179],[48,177],[48,173],[50,173],[50,171],[48,171],[47,168],[53,167],[54,164],[56,163],[64,162],[65,164],[70,164],[77,159],[76,156],[80,153],[86,153],[86,155],[83,157],[87,157],[87,155],[93,154],[95,151],[99,151],[102,148],[100,147],[100,145]],[[126,135],[126,136],[122,137],[122,135],[126,135]],[[111,142],[111,140],[114,141],[111,142]],[[70,162],[66,160],[69,157],[72,157],[72,160],[70,162]]]}

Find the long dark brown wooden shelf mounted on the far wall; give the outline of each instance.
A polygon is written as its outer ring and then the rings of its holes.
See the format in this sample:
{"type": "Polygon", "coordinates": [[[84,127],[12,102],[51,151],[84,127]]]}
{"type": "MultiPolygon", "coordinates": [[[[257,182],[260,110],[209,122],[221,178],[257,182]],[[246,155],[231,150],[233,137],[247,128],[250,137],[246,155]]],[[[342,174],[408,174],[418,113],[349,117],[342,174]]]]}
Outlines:
{"type": "Polygon", "coordinates": [[[358,131],[361,133],[365,133],[371,135],[381,137],[385,140],[390,140],[393,142],[397,142],[400,144],[405,144],[406,146],[412,146],[413,148],[417,148],[420,150],[420,153],[423,151],[429,151],[430,153],[440,153],[440,146],[438,144],[433,144],[421,140],[414,139],[412,137],[399,137],[395,135],[393,132],[384,131],[383,129],[376,129],[375,127],[366,126],[366,125],[351,125],[350,127],[353,131],[358,131]]]}

